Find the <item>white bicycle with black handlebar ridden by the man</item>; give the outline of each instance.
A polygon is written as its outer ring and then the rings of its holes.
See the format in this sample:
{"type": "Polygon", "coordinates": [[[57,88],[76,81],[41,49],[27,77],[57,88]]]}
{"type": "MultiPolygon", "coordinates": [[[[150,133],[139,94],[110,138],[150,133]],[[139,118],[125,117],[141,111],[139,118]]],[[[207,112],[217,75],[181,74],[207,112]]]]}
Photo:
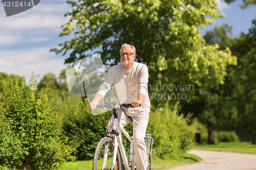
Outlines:
{"type": "MultiPolygon", "coordinates": [[[[141,104],[140,104],[141,106],[141,104]]],[[[105,104],[97,105],[97,108],[109,108],[113,109],[114,120],[113,120],[113,130],[112,132],[106,132],[106,136],[103,137],[95,150],[94,159],[93,159],[93,170],[135,170],[135,153],[133,150],[133,132],[130,136],[124,128],[118,127],[118,115],[116,109],[125,107],[133,107],[132,104],[121,104],[116,105],[114,102],[105,102],[105,104]],[[127,139],[131,142],[130,152],[128,161],[126,159],[126,154],[124,151],[121,132],[126,136],[127,139]]],[[[109,110],[109,112],[110,112],[109,110]]],[[[106,112],[108,113],[108,111],[106,112]]],[[[147,169],[152,170],[152,147],[153,147],[153,138],[151,134],[146,134],[145,136],[146,144],[146,158],[147,158],[147,169]]],[[[140,170],[140,169],[138,169],[140,170]]]]}

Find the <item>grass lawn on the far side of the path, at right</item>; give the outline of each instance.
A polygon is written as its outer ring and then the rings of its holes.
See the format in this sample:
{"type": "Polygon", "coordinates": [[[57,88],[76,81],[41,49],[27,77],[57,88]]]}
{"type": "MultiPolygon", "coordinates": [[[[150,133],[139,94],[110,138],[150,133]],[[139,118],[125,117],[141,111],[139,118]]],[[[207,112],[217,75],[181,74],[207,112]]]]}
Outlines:
{"type": "Polygon", "coordinates": [[[219,142],[218,144],[198,144],[193,149],[256,154],[256,145],[251,144],[251,142],[219,142]]]}

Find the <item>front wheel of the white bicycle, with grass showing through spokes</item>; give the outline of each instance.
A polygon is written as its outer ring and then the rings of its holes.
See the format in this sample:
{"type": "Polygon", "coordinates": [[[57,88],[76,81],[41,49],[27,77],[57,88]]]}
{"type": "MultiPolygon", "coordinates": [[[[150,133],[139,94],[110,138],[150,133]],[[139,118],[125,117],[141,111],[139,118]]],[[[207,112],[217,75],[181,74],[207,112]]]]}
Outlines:
{"type": "MultiPolygon", "coordinates": [[[[98,169],[111,169],[112,167],[112,159],[113,159],[113,151],[114,151],[114,143],[113,139],[111,137],[103,137],[95,150],[94,158],[93,158],[93,170],[98,169]],[[109,152],[106,160],[106,165],[103,167],[103,154],[104,154],[104,148],[105,144],[109,144],[109,152]]],[[[117,152],[117,158],[116,158],[116,165],[115,169],[121,170],[121,156],[120,151],[117,152]]]]}

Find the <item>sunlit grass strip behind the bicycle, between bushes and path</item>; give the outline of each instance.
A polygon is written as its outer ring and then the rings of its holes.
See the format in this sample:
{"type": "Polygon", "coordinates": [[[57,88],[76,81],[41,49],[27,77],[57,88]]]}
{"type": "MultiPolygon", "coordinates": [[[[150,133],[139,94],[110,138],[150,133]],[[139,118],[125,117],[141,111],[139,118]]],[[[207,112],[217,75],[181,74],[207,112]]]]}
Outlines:
{"type": "MultiPolygon", "coordinates": [[[[192,154],[185,154],[183,159],[180,160],[162,160],[162,159],[154,159],[153,158],[153,165],[155,164],[155,167],[161,167],[162,168],[153,168],[153,169],[166,169],[164,168],[165,163],[170,164],[182,164],[182,163],[195,163],[200,161],[201,158],[197,157],[196,155],[192,154]]],[[[87,161],[75,161],[75,162],[66,162],[61,167],[56,168],[57,170],[91,170],[93,167],[93,160],[87,160],[87,161]]]]}

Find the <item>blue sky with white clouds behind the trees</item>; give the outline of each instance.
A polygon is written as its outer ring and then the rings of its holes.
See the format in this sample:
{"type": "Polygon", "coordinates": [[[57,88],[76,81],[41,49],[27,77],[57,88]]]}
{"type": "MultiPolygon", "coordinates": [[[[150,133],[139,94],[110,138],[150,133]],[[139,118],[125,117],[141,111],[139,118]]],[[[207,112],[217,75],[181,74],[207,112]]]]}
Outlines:
{"type": "MultiPolygon", "coordinates": [[[[214,25],[199,28],[202,35],[224,23],[233,27],[232,37],[241,32],[248,33],[252,19],[256,18],[256,6],[242,10],[237,0],[230,5],[218,0],[218,7],[226,17],[216,20],[214,25]]],[[[38,82],[44,75],[52,72],[57,77],[68,64],[63,64],[66,56],[50,52],[59,43],[73,38],[74,35],[58,37],[61,25],[69,18],[64,14],[71,11],[71,5],[65,0],[41,0],[28,11],[6,17],[3,4],[0,4],[0,72],[15,74],[26,78],[29,83],[31,72],[39,75],[38,82]]]]}

